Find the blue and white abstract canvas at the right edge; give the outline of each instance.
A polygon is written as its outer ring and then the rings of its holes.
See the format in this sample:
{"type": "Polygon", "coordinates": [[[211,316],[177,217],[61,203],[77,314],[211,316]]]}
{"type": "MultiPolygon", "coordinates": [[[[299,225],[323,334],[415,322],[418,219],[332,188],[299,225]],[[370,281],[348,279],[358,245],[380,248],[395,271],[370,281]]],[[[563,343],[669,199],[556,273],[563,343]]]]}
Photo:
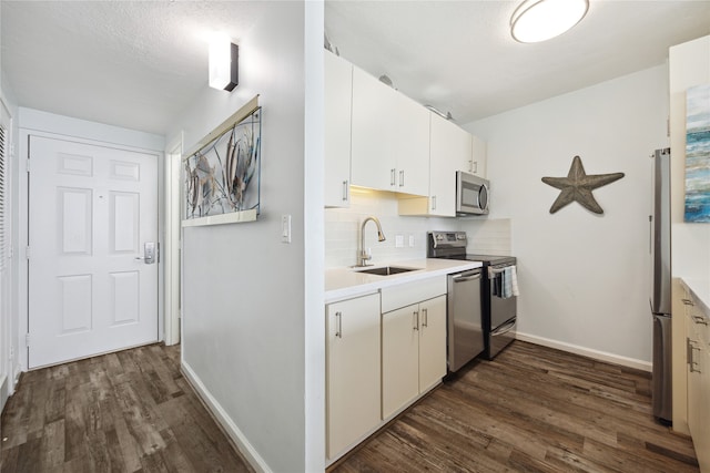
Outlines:
{"type": "Polygon", "coordinates": [[[710,223],[710,84],[686,93],[686,222],[710,223]]]}

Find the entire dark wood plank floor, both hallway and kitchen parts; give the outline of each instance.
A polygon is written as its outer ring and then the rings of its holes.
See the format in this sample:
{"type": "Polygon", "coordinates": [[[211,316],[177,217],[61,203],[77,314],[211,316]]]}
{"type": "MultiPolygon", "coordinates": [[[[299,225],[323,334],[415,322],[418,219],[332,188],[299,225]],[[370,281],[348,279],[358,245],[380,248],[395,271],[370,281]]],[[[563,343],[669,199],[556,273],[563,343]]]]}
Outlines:
{"type": "MultiPolygon", "coordinates": [[[[152,345],[24,373],[2,413],[3,472],[252,471],[152,345]],[[6,440],[7,439],[7,440],[6,440]]],[[[648,373],[516,341],[475,361],[333,472],[698,472],[657,424],[648,373]]]]}

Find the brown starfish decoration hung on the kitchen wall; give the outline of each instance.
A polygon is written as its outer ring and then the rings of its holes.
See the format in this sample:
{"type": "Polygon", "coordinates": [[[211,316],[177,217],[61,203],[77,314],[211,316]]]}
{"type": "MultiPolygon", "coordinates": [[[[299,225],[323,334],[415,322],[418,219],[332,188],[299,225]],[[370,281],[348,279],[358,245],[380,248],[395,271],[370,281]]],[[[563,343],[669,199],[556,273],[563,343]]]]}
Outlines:
{"type": "Polygon", "coordinates": [[[556,213],[574,200],[595,214],[604,214],[604,209],[595,199],[591,191],[610,184],[623,177],[623,173],[587,175],[581,158],[575,156],[567,177],[542,177],[542,182],[560,189],[559,196],[550,207],[550,214],[556,213]]]}

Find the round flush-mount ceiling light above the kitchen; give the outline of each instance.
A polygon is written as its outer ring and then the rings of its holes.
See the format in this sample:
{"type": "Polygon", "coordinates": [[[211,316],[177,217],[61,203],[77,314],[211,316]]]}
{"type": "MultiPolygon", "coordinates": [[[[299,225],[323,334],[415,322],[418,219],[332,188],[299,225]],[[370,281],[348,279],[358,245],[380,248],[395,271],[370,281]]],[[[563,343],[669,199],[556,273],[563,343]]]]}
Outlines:
{"type": "Polygon", "coordinates": [[[510,34],[521,43],[549,40],[585,18],[589,0],[525,0],[510,17],[510,34]]]}

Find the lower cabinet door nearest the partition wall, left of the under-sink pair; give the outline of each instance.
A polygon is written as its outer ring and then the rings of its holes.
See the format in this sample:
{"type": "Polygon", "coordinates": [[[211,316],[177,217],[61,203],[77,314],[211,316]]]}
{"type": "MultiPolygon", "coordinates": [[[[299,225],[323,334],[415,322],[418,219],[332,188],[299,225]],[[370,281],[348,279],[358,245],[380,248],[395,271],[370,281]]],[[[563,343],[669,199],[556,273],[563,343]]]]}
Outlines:
{"type": "Polygon", "coordinates": [[[379,423],[379,295],[326,306],[327,456],[379,423]]]}

